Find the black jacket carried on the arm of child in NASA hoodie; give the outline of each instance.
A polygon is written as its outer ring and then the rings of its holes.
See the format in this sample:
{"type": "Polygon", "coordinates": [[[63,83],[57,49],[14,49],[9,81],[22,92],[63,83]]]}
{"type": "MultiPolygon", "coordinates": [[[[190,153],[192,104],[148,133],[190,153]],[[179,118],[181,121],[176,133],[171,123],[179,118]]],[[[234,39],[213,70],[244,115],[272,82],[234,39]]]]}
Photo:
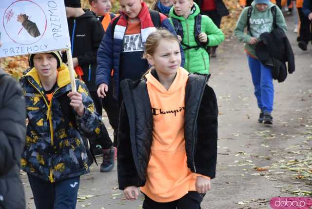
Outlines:
{"type": "Polygon", "coordinates": [[[286,62],[288,62],[288,73],[295,70],[292,46],[281,28],[273,29],[271,33],[262,33],[261,42],[257,43],[255,53],[259,61],[272,67],[273,79],[278,82],[285,81],[287,77],[286,62]]]}

